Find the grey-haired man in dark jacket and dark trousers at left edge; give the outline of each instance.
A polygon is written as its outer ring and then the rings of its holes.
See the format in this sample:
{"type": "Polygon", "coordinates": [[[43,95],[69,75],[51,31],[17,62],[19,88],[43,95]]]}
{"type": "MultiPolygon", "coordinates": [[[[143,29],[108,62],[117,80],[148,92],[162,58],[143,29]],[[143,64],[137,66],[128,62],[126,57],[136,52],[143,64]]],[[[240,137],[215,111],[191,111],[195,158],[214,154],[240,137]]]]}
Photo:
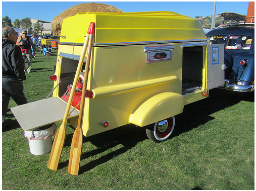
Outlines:
{"type": "Polygon", "coordinates": [[[2,30],[2,128],[7,127],[7,114],[10,98],[18,105],[27,104],[23,93],[24,60],[21,49],[16,45],[18,37],[12,27],[2,30]]]}

